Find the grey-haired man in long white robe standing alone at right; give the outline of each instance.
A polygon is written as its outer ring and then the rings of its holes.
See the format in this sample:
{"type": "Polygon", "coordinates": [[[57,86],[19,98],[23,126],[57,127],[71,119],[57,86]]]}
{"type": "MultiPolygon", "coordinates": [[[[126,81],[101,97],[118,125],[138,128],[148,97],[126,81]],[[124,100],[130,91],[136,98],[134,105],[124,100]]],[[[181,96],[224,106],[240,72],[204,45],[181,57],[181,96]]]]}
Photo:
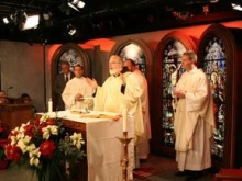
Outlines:
{"type": "Polygon", "coordinates": [[[176,90],[177,106],[174,120],[175,150],[178,172],[188,173],[186,180],[196,180],[202,170],[211,167],[211,139],[215,131],[213,102],[206,73],[196,67],[197,56],[185,52],[182,65],[186,72],[176,90]],[[193,174],[190,174],[193,172],[193,174]]]}

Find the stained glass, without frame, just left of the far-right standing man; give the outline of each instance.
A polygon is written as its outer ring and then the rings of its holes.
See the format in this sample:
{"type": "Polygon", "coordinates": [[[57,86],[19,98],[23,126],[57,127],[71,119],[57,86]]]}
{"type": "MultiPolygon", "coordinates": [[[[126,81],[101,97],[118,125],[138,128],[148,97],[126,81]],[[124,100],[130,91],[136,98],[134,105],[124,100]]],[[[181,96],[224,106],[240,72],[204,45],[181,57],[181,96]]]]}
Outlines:
{"type": "Polygon", "coordinates": [[[162,59],[162,128],[164,146],[173,147],[175,145],[174,134],[174,113],[176,99],[173,97],[172,91],[175,89],[176,83],[184,72],[182,68],[182,56],[186,52],[185,46],[176,39],[170,41],[165,49],[162,59]]]}

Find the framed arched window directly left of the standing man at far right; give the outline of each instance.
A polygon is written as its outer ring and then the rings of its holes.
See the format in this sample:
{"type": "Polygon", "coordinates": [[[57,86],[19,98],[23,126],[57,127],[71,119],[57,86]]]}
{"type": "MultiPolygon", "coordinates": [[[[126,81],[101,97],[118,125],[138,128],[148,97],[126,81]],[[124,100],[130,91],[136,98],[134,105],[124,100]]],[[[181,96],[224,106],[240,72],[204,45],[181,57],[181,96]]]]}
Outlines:
{"type": "Polygon", "coordinates": [[[174,114],[176,99],[172,92],[184,72],[182,56],[184,52],[196,50],[194,41],[182,32],[174,31],[165,35],[158,43],[155,52],[155,150],[174,156],[175,133],[174,114]]]}

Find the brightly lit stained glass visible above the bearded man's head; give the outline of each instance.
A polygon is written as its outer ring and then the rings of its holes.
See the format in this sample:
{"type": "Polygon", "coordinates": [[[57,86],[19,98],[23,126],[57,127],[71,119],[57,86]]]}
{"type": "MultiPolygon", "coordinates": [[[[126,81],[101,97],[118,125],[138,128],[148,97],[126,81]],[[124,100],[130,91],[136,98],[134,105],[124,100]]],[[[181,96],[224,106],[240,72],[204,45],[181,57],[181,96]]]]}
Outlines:
{"type": "Polygon", "coordinates": [[[125,59],[132,59],[136,63],[138,68],[146,75],[146,59],[143,49],[135,45],[135,44],[129,44],[119,54],[123,60],[125,59]]]}

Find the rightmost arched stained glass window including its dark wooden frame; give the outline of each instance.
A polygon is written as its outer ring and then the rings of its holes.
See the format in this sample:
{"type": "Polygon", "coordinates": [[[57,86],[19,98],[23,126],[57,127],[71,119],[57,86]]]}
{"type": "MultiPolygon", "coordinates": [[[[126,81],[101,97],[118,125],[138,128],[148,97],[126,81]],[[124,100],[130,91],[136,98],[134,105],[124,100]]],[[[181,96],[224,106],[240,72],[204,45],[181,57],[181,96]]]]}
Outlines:
{"type": "MultiPolygon", "coordinates": [[[[213,162],[234,167],[238,117],[238,46],[233,33],[221,24],[210,25],[201,35],[198,65],[212,88],[216,131],[211,145],[213,162]]],[[[241,165],[241,162],[240,162],[241,165]]]]}

